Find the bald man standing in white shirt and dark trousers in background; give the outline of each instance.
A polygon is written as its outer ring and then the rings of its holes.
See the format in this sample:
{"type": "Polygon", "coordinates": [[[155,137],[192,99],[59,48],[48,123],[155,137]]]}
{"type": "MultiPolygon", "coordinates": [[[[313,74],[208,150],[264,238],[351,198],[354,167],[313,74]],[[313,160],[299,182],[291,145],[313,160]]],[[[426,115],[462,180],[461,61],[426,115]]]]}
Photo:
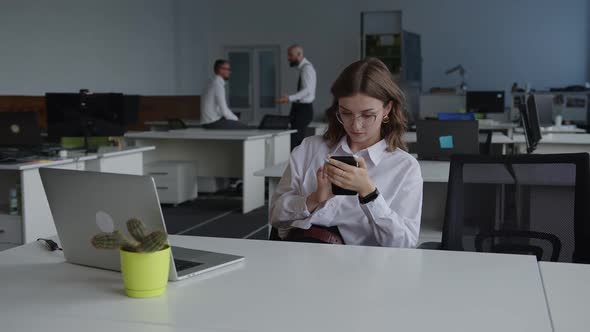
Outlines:
{"type": "Polygon", "coordinates": [[[303,57],[303,48],[299,45],[292,45],[287,52],[289,66],[297,67],[299,79],[297,81],[297,92],[279,98],[279,102],[291,104],[291,128],[297,132],[291,135],[291,149],[301,144],[305,138],[305,131],[313,120],[313,101],[315,99],[316,72],[311,62],[303,57]]]}

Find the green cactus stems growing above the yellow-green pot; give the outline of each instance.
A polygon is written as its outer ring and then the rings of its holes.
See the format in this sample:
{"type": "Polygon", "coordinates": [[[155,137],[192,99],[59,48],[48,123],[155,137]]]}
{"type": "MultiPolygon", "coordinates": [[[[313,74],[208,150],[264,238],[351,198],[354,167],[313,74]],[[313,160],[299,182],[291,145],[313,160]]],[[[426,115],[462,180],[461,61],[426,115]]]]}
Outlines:
{"type": "Polygon", "coordinates": [[[127,221],[127,230],[133,239],[114,231],[96,234],[92,237],[91,243],[97,249],[123,249],[133,252],[155,252],[168,245],[168,235],[165,232],[154,231],[146,235],[145,225],[137,218],[127,221]]]}

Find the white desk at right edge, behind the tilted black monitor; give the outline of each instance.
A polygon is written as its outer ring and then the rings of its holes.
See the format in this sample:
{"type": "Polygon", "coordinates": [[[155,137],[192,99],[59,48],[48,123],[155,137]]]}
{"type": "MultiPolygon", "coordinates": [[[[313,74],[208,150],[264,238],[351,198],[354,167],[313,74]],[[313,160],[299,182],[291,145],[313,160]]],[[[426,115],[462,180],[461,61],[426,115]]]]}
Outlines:
{"type": "MultiPolygon", "coordinates": [[[[514,135],[520,149],[526,147],[524,135],[514,135]]],[[[546,134],[537,144],[534,153],[590,153],[590,134],[546,134]]]]}

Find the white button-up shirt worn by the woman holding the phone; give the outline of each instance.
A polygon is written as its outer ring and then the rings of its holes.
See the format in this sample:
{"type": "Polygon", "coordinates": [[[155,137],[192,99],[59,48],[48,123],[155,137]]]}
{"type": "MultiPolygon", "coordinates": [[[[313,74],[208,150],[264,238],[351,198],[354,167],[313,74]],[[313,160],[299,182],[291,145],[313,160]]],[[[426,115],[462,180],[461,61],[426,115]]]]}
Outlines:
{"type": "Polygon", "coordinates": [[[330,149],[322,136],[303,140],[293,150],[271,200],[270,222],[284,234],[289,227],[338,226],[346,244],[415,247],[422,213],[422,174],[418,161],[407,152],[386,150],[384,140],[359,151],[380,195],[360,204],[358,196],[334,196],[313,213],[306,199],[317,189],[316,171],[328,155],[351,155],[346,136],[330,149]]]}

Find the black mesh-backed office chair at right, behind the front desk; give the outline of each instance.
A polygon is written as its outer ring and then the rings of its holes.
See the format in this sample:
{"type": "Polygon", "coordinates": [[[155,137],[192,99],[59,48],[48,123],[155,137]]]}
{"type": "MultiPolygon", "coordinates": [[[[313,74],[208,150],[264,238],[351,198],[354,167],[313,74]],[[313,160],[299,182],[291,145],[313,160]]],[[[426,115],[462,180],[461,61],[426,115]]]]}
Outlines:
{"type": "Polygon", "coordinates": [[[590,263],[589,155],[451,158],[442,242],[422,249],[590,263]]]}

